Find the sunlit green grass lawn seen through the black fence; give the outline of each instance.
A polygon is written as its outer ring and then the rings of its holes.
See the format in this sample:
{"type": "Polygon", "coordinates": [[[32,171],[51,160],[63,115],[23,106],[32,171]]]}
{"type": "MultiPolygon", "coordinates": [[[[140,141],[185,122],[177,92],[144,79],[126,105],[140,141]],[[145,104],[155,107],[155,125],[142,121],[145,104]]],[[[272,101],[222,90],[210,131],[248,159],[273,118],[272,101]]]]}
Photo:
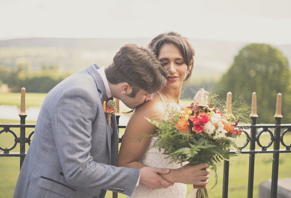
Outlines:
{"type": "MultiPolygon", "coordinates": [[[[26,107],[28,106],[41,106],[41,103],[46,94],[33,94],[26,93],[26,107]],[[29,100],[33,100],[31,102],[29,100]],[[41,101],[41,103],[40,103],[41,101]],[[28,105],[30,104],[30,105],[28,105]]],[[[0,94],[0,105],[18,105],[20,104],[20,93],[19,94],[0,94]],[[8,98],[7,98],[7,97],[8,98]]],[[[189,103],[189,100],[186,101],[189,103]]],[[[120,111],[127,111],[123,104],[120,104],[120,111]]],[[[20,119],[19,119],[20,120],[20,119]]],[[[19,120],[3,120],[0,119],[0,123],[19,123],[19,120]]],[[[35,123],[35,121],[27,121],[26,123],[35,123]]],[[[2,130],[2,129],[0,129],[2,130]]],[[[15,131],[19,137],[19,129],[11,128],[12,131],[15,131]]],[[[33,129],[26,129],[26,137],[28,134],[33,131],[33,129]]],[[[120,131],[120,135],[123,134],[123,130],[120,131]]],[[[269,142],[268,135],[262,135],[260,137],[260,142],[267,144],[269,142]]],[[[288,132],[284,136],[284,142],[286,144],[291,144],[291,133],[288,132]]],[[[11,147],[14,144],[13,135],[10,133],[1,133],[0,135],[0,145],[1,147],[11,147]]],[[[273,145],[272,145],[273,146],[273,145]]],[[[271,146],[271,148],[272,148],[271,146]]],[[[247,146],[249,148],[249,145],[247,146]]],[[[258,146],[256,145],[256,148],[258,146]]],[[[280,148],[283,148],[282,145],[280,148]]],[[[26,144],[26,150],[28,145],[26,144]]],[[[19,144],[11,152],[19,152],[19,144]]],[[[291,177],[291,154],[284,153],[280,154],[279,161],[279,178],[291,177]]],[[[255,155],[255,172],[254,172],[254,193],[253,197],[258,197],[258,186],[261,182],[266,179],[271,178],[272,176],[272,157],[273,154],[256,154],[255,155]]],[[[0,198],[8,198],[13,196],[15,184],[19,174],[19,157],[1,157],[0,158],[0,198]]],[[[247,197],[247,186],[248,186],[248,170],[249,170],[249,155],[240,154],[236,157],[231,158],[235,163],[230,163],[229,171],[229,186],[228,186],[228,197],[231,198],[245,198],[247,197]]],[[[207,185],[209,197],[211,198],[220,198],[222,197],[222,181],[223,181],[223,163],[218,164],[218,175],[219,182],[218,185],[210,190],[214,184],[214,174],[210,173],[210,181],[207,185]]],[[[188,193],[191,191],[191,185],[188,185],[188,193]]],[[[111,198],[112,192],[108,191],[106,198],[111,198]]],[[[119,198],[125,198],[126,196],[118,193],[119,198]]]]}

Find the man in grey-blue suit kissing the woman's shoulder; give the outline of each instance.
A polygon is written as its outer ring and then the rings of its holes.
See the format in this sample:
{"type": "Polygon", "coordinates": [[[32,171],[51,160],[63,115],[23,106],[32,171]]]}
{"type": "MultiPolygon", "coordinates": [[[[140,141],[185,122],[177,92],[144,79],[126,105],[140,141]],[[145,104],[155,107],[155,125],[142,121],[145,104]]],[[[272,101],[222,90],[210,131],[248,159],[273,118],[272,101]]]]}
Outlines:
{"type": "Polygon", "coordinates": [[[168,72],[148,49],[123,46],[106,69],[93,63],[46,96],[16,184],[14,198],[103,198],[106,190],[131,195],[136,185],[167,188],[169,170],[116,167],[115,116],[107,124],[102,103],[110,97],[136,108],[166,83],[168,72]]]}

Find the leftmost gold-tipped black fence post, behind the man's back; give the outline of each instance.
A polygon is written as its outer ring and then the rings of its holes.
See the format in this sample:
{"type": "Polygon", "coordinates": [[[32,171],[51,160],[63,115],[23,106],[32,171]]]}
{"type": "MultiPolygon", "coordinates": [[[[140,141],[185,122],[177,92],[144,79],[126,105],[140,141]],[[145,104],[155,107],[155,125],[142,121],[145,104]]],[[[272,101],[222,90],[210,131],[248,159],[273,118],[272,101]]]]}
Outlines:
{"type": "MultiPolygon", "coordinates": [[[[20,117],[20,124],[25,124],[25,88],[21,89],[21,101],[20,101],[20,113],[18,114],[20,117]]],[[[20,138],[17,141],[20,143],[20,154],[25,154],[25,126],[20,127],[20,138]]],[[[25,156],[20,156],[20,169],[22,167],[22,163],[24,161],[25,156]]]]}

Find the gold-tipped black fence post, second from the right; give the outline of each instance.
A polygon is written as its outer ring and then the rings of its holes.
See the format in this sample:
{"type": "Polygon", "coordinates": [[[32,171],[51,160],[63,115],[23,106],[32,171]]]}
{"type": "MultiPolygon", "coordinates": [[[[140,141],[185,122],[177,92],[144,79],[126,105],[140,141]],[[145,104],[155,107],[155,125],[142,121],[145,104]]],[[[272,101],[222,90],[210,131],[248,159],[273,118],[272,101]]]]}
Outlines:
{"type": "MultiPolygon", "coordinates": [[[[252,106],[251,106],[251,137],[250,137],[250,151],[255,150],[255,142],[256,142],[256,119],[258,117],[257,114],[257,94],[253,92],[252,95],[252,106]]],[[[254,183],[254,168],[255,167],[255,154],[250,153],[249,157],[249,182],[248,182],[248,198],[253,197],[253,183],[254,183]]]]}

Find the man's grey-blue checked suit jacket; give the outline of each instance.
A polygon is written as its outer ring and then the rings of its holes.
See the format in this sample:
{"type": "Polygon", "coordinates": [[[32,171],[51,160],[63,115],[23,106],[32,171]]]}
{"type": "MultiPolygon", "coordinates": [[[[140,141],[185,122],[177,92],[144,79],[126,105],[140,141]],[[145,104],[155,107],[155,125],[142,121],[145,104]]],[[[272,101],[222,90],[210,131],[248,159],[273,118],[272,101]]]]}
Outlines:
{"type": "Polygon", "coordinates": [[[92,63],[56,85],[42,104],[13,198],[131,195],[139,169],[115,167],[118,131],[106,122],[104,83],[92,63]]]}

